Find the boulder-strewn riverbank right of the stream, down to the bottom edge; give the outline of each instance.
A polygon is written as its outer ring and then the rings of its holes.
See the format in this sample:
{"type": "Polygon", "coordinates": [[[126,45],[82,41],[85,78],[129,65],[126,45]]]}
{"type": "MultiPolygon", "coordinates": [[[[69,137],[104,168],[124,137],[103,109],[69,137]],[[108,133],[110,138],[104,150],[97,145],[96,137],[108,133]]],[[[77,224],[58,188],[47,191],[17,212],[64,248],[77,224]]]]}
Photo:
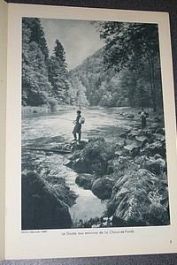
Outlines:
{"type": "Polygon", "coordinates": [[[76,183],[90,189],[107,210],[80,227],[147,226],[170,223],[165,160],[165,130],[155,119],[148,129],[128,128],[112,143],[93,138],[73,144],[66,165],[76,183]]]}

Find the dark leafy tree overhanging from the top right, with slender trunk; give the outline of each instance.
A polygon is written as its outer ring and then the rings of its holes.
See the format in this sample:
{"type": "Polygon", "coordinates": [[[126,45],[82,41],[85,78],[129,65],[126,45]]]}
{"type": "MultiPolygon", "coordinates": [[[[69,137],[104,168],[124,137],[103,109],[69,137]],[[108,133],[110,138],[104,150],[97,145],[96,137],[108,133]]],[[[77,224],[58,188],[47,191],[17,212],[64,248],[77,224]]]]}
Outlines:
{"type": "MultiPolygon", "coordinates": [[[[159,67],[158,25],[145,23],[101,22],[96,24],[104,47],[104,65],[117,72],[122,69],[140,69],[148,65],[150,94],[153,110],[157,110],[157,87],[161,83],[157,72],[159,67]]],[[[158,73],[159,76],[159,73],[158,73]]]]}

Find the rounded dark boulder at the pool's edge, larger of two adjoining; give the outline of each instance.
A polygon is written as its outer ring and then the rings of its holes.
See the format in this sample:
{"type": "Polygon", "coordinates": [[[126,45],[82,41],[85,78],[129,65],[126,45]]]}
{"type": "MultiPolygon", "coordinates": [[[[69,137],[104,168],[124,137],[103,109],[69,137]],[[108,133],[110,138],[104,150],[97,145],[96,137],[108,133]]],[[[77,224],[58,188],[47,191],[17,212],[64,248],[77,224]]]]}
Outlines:
{"type": "Polygon", "coordinates": [[[91,191],[101,200],[110,199],[114,184],[115,179],[109,177],[98,178],[94,181],[91,191]]]}

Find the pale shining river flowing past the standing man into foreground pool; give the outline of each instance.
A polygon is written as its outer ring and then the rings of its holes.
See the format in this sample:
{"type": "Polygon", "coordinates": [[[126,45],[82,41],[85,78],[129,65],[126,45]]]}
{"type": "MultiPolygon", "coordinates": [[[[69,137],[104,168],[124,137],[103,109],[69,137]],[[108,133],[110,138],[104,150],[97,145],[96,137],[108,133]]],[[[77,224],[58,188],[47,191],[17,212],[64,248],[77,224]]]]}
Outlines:
{"type": "MultiPolygon", "coordinates": [[[[120,117],[120,111],[131,110],[83,110],[81,114],[85,117],[85,124],[82,125],[82,140],[96,136],[116,140],[120,130],[135,123],[134,119],[120,117]]],[[[64,142],[71,142],[75,112],[65,110],[50,114],[34,113],[22,118],[22,170],[34,170],[37,167],[43,175],[50,171],[55,177],[65,178],[66,183],[78,196],[76,203],[70,208],[70,214],[73,222],[79,222],[80,219],[87,221],[102,216],[106,202],[75,184],[77,173],[65,167],[67,155],[46,155],[44,152],[29,150],[29,147],[52,148],[64,142]]]]}

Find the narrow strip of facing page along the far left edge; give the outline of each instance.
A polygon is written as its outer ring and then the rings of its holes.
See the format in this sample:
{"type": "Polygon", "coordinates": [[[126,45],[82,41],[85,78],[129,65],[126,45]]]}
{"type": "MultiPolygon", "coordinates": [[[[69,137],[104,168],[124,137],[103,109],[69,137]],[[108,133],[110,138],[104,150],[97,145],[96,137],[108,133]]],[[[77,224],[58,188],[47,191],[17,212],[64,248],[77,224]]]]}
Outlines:
{"type": "Polygon", "coordinates": [[[6,60],[7,60],[7,4],[0,1],[0,259],[4,258],[4,205],[5,205],[5,93],[6,93],[6,60]]]}

